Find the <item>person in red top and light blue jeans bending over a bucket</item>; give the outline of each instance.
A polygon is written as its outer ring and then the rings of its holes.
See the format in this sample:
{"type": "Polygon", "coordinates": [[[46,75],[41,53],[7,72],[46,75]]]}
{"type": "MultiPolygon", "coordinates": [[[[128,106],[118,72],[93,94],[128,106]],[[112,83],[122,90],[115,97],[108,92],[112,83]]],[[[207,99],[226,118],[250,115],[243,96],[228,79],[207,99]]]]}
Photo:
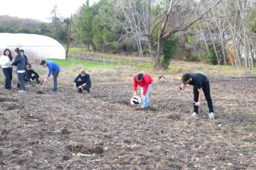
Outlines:
{"type": "Polygon", "coordinates": [[[134,94],[133,96],[137,96],[137,86],[140,85],[142,87],[141,94],[142,97],[140,98],[142,100],[142,108],[145,108],[149,106],[149,90],[152,86],[153,79],[149,76],[149,74],[144,72],[138,72],[133,77],[133,89],[134,94]]]}

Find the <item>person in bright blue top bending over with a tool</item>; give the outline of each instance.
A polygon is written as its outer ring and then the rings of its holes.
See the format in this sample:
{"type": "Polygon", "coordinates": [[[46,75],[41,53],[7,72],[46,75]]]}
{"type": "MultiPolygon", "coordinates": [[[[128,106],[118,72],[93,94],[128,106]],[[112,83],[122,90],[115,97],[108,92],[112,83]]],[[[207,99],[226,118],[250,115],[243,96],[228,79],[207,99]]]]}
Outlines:
{"type": "Polygon", "coordinates": [[[46,66],[48,67],[49,72],[48,72],[48,75],[46,76],[46,78],[44,79],[44,82],[46,82],[47,79],[52,74],[54,87],[50,92],[51,93],[56,93],[57,92],[57,85],[58,85],[57,78],[59,76],[59,71],[61,71],[61,69],[59,68],[59,65],[56,64],[55,62],[51,61],[51,60],[41,60],[40,65],[42,65],[43,67],[46,67],[46,66]]]}

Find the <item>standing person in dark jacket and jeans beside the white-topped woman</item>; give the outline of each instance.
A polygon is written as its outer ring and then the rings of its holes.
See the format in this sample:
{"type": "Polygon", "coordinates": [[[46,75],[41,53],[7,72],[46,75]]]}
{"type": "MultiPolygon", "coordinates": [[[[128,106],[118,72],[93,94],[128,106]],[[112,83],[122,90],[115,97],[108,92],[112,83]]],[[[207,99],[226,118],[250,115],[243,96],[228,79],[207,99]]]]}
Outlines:
{"type": "Polygon", "coordinates": [[[24,75],[27,69],[25,57],[20,54],[19,48],[15,48],[15,55],[16,57],[12,64],[16,65],[16,72],[18,74],[18,83],[20,84],[20,90],[18,92],[27,92],[24,82],[24,75]]]}

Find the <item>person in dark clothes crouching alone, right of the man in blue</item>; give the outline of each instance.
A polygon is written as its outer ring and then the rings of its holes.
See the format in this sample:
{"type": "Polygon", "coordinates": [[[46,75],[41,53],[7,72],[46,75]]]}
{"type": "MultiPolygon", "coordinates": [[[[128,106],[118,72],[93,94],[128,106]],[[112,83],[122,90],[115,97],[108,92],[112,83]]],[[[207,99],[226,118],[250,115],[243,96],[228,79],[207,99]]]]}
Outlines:
{"type": "Polygon", "coordinates": [[[83,93],[83,90],[87,90],[88,93],[90,93],[90,86],[92,83],[90,82],[90,75],[85,73],[84,70],[80,71],[80,74],[75,78],[74,80],[74,90],[76,87],[78,88],[78,93],[83,93]],[[81,79],[81,81],[78,81],[78,79],[81,79]]]}

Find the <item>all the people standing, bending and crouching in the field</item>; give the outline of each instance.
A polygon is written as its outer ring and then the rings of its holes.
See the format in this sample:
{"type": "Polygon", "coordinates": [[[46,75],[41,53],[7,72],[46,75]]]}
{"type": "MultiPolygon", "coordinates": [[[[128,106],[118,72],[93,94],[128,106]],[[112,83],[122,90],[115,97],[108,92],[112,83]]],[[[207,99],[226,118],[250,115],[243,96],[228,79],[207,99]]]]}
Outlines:
{"type": "MultiPolygon", "coordinates": [[[[3,55],[0,57],[0,64],[3,68],[3,73],[5,77],[4,89],[6,91],[11,90],[11,80],[12,76],[12,65],[15,65],[15,72],[18,75],[18,88],[20,88],[19,92],[27,92],[25,87],[25,81],[33,82],[35,79],[37,84],[40,83],[39,74],[37,74],[31,64],[28,64],[27,56],[24,55],[24,50],[19,50],[19,48],[15,48],[15,59],[13,59],[11,55],[11,51],[6,48],[3,52],[3,55]],[[27,67],[26,67],[27,65],[27,67]],[[34,74],[34,76],[32,76],[34,74]]],[[[43,67],[48,67],[49,72],[44,79],[46,82],[52,74],[53,81],[54,81],[54,88],[51,90],[51,93],[57,92],[58,86],[58,76],[60,72],[59,65],[51,60],[41,60],[40,65],[43,67]]],[[[137,96],[137,87],[138,85],[142,88],[141,89],[141,101],[142,101],[142,108],[147,108],[149,106],[149,90],[152,86],[153,79],[149,76],[149,74],[144,72],[138,72],[133,77],[133,90],[134,96],[137,96]]],[[[193,104],[193,114],[192,116],[198,116],[198,106],[202,101],[202,94],[205,94],[205,99],[207,100],[207,105],[209,107],[209,117],[210,119],[214,119],[214,110],[212,106],[212,98],[210,97],[210,84],[209,80],[203,74],[193,73],[193,74],[183,74],[182,76],[182,84],[181,86],[177,87],[176,90],[184,90],[186,88],[186,84],[190,84],[193,86],[193,94],[194,94],[194,101],[197,101],[195,105],[193,104]]],[[[80,71],[80,74],[74,80],[74,90],[78,88],[78,93],[83,93],[83,91],[87,91],[90,93],[90,87],[92,83],[90,81],[90,75],[87,74],[84,70],[80,71]],[[80,79],[80,81],[78,81],[80,79]]]]}

